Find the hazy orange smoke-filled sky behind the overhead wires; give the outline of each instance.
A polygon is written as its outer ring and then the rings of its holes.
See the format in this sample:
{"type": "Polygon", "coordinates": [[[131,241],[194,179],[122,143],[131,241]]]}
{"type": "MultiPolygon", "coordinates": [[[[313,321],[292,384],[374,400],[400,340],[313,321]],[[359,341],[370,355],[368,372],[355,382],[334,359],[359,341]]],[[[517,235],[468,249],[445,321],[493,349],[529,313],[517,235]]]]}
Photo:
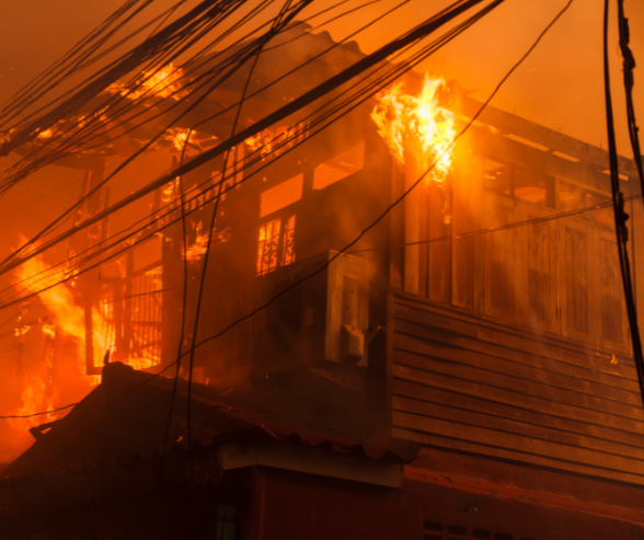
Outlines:
{"type": "MultiPolygon", "coordinates": [[[[173,1],[157,0],[154,9],[160,11],[173,1]]],[[[187,5],[194,5],[196,1],[189,0],[187,5]]],[[[336,1],[318,0],[313,9],[329,7],[336,1]]],[[[357,7],[365,1],[348,0],[340,9],[357,7]]],[[[432,57],[427,68],[442,73],[447,79],[458,78],[464,88],[475,90],[475,97],[484,100],[565,1],[507,0],[478,26],[432,57]]],[[[1,2],[0,101],[10,97],[21,84],[56,60],[122,3],[123,0],[1,2]]],[[[448,3],[447,0],[411,0],[389,20],[359,37],[360,47],[367,53],[371,51],[386,39],[417,24],[448,3]]],[[[377,1],[329,30],[334,38],[342,38],[357,25],[394,4],[394,0],[377,1]]],[[[575,0],[493,103],[553,129],[606,147],[602,5],[602,0],[575,0]]],[[[644,28],[644,2],[626,0],[625,5],[631,18],[632,48],[640,61],[635,71],[636,107],[640,124],[644,125],[644,33],[636,31],[644,28]]],[[[326,16],[312,23],[317,24],[326,16]]],[[[621,57],[616,35],[611,36],[611,44],[620,153],[630,156],[623,122],[621,57]]],[[[8,234],[10,230],[20,228],[27,237],[32,235],[62,208],[76,202],[79,181],[77,171],[48,168],[23,182],[10,196],[0,198],[4,229],[4,232],[0,232],[0,256],[5,256],[9,244],[15,243],[16,235],[8,234]],[[34,219],[25,222],[26,212],[34,219]]]]}

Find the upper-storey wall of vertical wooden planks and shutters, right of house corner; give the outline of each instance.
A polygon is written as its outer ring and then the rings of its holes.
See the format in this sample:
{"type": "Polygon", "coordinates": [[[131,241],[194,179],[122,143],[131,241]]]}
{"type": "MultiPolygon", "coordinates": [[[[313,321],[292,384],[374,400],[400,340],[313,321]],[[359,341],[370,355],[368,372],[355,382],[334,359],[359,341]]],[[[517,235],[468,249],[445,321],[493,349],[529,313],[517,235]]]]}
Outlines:
{"type": "MultiPolygon", "coordinates": [[[[550,219],[568,210],[559,207],[559,179],[554,184],[552,177],[555,207],[484,188],[483,161],[457,156],[447,210],[433,183],[419,186],[419,261],[404,263],[405,279],[416,274],[418,287],[409,288],[407,279],[403,290],[486,320],[629,355],[614,229],[593,211],[550,219]],[[526,225],[493,231],[520,222],[526,225]]],[[[587,200],[580,205],[591,206],[587,200]]],[[[644,274],[635,280],[644,283],[644,274]]]]}

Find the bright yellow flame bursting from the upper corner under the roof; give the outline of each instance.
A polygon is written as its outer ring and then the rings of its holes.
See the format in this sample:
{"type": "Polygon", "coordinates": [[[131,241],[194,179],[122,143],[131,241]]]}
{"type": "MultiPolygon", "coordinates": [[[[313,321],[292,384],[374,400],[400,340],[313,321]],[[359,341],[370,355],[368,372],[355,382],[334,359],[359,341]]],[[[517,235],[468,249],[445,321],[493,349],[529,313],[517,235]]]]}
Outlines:
{"type": "Polygon", "coordinates": [[[432,171],[435,182],[442,183],[449,172],[452,150],[449,146],[456,136],[453,114],[438,105],[437,91],[445,85],[442,79],[425,76],[421,94],[415,97],[404,93],[404,82],[378,94],[378,104],[371,118],[378,126],[393,157],[405,162],[405,151],[419,146],[424,166],[437,161],[432,171]],[[413,143],[409,140],[413,138],[413,143]]]}

